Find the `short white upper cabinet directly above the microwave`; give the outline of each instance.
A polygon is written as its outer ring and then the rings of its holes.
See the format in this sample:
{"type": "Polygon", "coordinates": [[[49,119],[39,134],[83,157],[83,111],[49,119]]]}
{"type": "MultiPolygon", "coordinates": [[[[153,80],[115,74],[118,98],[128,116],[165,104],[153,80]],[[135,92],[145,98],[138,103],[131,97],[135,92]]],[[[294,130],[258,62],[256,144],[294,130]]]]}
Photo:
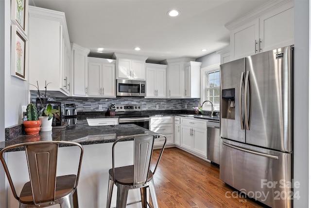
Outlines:
{"type": "Polygon", "coordinates": [[[145,80],[145,64],[148,57],[115,53],[117,79],[145,80]]]}

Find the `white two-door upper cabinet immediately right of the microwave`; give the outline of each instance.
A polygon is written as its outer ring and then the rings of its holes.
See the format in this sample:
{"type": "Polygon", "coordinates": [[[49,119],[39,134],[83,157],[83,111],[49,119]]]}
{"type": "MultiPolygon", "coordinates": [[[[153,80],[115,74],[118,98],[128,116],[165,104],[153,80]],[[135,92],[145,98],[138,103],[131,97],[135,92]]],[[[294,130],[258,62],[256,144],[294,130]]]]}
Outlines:
{"type": "Polygon", "coordinates": [[[146,98],[166,97],[167,65],[146,63],[146,98]]]}

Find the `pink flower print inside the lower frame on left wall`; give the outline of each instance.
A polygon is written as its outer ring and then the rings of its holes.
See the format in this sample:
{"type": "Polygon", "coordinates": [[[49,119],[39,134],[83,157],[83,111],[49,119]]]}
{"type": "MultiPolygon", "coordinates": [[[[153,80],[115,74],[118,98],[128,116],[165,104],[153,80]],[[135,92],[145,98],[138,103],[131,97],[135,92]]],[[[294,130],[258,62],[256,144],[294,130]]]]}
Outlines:
{"type": "Polygon", "coordinates": [[[25,77],[25,40],[22,39],[17,33],[16,36],[16,69],[15,72],[21,76],[25,77]]]}

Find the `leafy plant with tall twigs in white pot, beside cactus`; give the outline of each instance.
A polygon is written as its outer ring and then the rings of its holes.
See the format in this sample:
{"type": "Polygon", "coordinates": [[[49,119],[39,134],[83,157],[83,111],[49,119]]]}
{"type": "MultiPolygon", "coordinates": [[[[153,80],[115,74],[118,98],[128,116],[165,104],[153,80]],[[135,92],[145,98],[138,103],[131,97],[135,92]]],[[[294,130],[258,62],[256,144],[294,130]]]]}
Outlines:
{"type": "Polygon", "coordinates": [[[38,91],[38,95],[39,95],[39,99],[40,99],[40,103],[41,103],[41,110],[38,112],[39,115],[39,120],[41,120],[41,132],[47,132],[47,131],[52,131],[52,118],[53,118],[53,113],[57,113],[58,110],[56,109],[52,109],[52,105],[48,104],[46,105],[46,95],[47,95],[47,86],[50,84],[51,82],[47,83],[47,81],[45,81],[45,95],[43,98],[43,102],[42,102],[42,98],[40,95],[40,91],[39,91],[39,84],[37,81],[37,86],[33,85],[37,88],[38,91]]]}

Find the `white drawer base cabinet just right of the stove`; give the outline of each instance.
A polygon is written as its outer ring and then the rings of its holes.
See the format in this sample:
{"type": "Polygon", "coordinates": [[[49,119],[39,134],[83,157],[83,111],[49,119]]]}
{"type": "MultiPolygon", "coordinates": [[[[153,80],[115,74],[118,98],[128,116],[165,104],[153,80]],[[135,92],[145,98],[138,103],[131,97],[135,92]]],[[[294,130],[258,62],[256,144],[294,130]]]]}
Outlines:
{"type": "MultiPolygon", "coordinates": [[[[173,144],[173,116],[151,116],[149,120],[150,131],[164,134],[167,137],[166,145],[173,144]]],[[[155,146],[162,144],[163,138],[155,140],[155,146]]]]}

